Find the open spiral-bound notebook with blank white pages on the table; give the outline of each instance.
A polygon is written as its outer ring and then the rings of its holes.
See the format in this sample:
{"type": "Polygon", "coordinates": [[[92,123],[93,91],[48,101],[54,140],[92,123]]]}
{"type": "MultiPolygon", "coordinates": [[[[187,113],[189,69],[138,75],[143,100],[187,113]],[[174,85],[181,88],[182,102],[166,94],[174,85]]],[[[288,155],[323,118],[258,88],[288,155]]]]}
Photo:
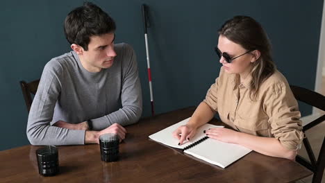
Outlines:
{"type": "Polygon", "coordinates": [[[173,137],[172,132],[174,132],[174,130],[176,130],[176,128],[179,126],[185,125],[189,119],[190,118],[171,125],[164,130],[156,132],[155,134],[151,134],[149,138],[173,148],[181,148],[184,153],[222,168],[226,168],[226,166],[251,152],[249,148],[245,148],[238,144],[224,143],[222,141],[217,141],[215,139],[206,137],[203,130],[208,130],[209,128],[223,128],[223,126],[211,125],[208,123],[202,125],[197,130],[197,134],[195,134],[195,136],[192,137],[188,143],[178,146],[178,139],[173,137]]]}

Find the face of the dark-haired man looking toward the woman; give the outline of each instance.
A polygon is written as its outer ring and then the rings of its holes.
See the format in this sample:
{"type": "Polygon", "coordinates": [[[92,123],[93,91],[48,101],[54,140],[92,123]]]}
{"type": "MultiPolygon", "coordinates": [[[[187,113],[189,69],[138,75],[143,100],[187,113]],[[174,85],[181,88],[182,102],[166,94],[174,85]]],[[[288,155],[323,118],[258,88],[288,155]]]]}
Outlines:
{"type": "Polygon", "coordinates": [[[99,72],[111,67],[116,56],[114,40],[114,33],[91,36],[88,51],[82,49],[79,54],[83,67],[90,72],[99,72]]]}

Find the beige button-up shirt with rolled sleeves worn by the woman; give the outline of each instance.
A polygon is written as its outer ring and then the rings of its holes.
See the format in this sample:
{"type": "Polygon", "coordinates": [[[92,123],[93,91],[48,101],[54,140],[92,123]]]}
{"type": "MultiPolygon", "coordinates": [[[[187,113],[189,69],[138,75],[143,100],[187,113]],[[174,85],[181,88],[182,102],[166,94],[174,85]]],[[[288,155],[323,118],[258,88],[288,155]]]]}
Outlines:
{"type": "Polygon", "coordinates": [[[276,70],[260,85],[254,101],[249,97],[251,76],[240,85],[236,84],[236,77],[222,67],[204,102],[233,129],[275,137],[285,148],[298,150],[303,139],[301,114],[285,77],[276,70]]]}

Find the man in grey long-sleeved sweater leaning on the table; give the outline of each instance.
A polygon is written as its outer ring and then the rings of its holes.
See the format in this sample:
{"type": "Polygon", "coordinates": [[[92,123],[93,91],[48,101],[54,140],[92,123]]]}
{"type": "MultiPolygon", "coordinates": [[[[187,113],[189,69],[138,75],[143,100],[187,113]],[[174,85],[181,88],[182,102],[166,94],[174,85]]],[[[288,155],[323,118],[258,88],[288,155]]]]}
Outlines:
{"type": "Polygon", "coordinates": [[[105,133],[125,138],[122,125],[135,123],[142,95],[135,53],[114,44],[115,22],[93,3],[65,19],[73,51],[53,58],[43,70],[28,116],[33,145],[99,143],[105,133]]]}

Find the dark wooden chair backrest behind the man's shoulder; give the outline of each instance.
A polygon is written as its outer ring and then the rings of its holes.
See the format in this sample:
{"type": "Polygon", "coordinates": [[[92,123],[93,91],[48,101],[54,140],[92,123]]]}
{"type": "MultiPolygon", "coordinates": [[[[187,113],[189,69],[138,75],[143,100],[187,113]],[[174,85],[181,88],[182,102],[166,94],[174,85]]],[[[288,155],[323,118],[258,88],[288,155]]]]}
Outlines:
{"type": "Polygon", "coordinates": [[[20,87],[22,87],[22,93],[25,99],[27,111],[31,110],[31,103],[33,102],[32,94],[35,95],[38,90],[38,83],[40,83],[40,80],[33,80],[32,82],[25,82],[24,80],[21,80],[19,82],[20,87]]]}

